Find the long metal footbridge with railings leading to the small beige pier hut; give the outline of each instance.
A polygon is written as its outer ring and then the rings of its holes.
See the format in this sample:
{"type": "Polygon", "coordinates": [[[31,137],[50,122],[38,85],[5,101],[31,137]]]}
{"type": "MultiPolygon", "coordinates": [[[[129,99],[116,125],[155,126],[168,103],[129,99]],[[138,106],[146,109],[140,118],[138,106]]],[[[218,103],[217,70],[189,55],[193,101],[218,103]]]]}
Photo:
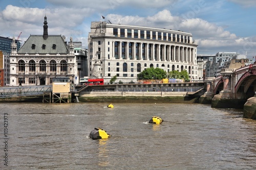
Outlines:
{"type": "Polygon", "coordinates": [[[51,91],[52,91],[52,85],[1,87],[0,98],[11,98],[14,96],[25,96],[25,95],[37,95],[37,94],[43,94],[44,92],[51,92],[51,91]]]}

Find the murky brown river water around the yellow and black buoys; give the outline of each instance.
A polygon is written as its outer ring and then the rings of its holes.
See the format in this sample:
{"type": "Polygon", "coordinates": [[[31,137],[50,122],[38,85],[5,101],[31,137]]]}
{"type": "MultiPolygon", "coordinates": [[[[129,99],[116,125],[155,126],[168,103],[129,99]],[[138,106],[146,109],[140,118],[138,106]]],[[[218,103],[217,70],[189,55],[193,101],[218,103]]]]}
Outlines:
{"type": "Polygon", "coordinates": [[[201,104],[1,103],[0,169],[255,169],[256,121],[201,104]],[[8,166],[4,164],[8,113],[8,166]],[[161,125],[148,124],[160,116],[161,125]],[[92,140],[102,128],[112,136],[92,140]]]}

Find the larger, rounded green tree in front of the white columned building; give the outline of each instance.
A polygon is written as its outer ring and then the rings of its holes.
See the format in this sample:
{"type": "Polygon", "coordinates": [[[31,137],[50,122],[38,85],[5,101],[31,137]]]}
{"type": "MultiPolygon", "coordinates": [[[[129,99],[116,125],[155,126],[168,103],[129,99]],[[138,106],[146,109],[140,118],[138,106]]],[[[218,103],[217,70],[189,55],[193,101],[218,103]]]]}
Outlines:
{"type": "Polygon", "coordinates": [[[161,80],[166,78],[166,71],[161,68],[146,68],[137,76],[137,80],[161,80]]]}

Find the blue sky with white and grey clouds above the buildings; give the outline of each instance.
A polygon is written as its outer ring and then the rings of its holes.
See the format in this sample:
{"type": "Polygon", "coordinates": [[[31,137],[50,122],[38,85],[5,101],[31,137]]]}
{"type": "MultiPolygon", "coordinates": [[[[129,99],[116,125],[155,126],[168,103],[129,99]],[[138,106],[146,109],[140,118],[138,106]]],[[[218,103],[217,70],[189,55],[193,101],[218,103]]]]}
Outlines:
{"type": "Polygon", "coordinates": [[[88,48],[92,21],[191,33],[197,54],[256,56],[255,0],[0,0],[0,36],[64,35],[88,48]],[[105,19],[102,19],[104,16],[105,19]]]}

